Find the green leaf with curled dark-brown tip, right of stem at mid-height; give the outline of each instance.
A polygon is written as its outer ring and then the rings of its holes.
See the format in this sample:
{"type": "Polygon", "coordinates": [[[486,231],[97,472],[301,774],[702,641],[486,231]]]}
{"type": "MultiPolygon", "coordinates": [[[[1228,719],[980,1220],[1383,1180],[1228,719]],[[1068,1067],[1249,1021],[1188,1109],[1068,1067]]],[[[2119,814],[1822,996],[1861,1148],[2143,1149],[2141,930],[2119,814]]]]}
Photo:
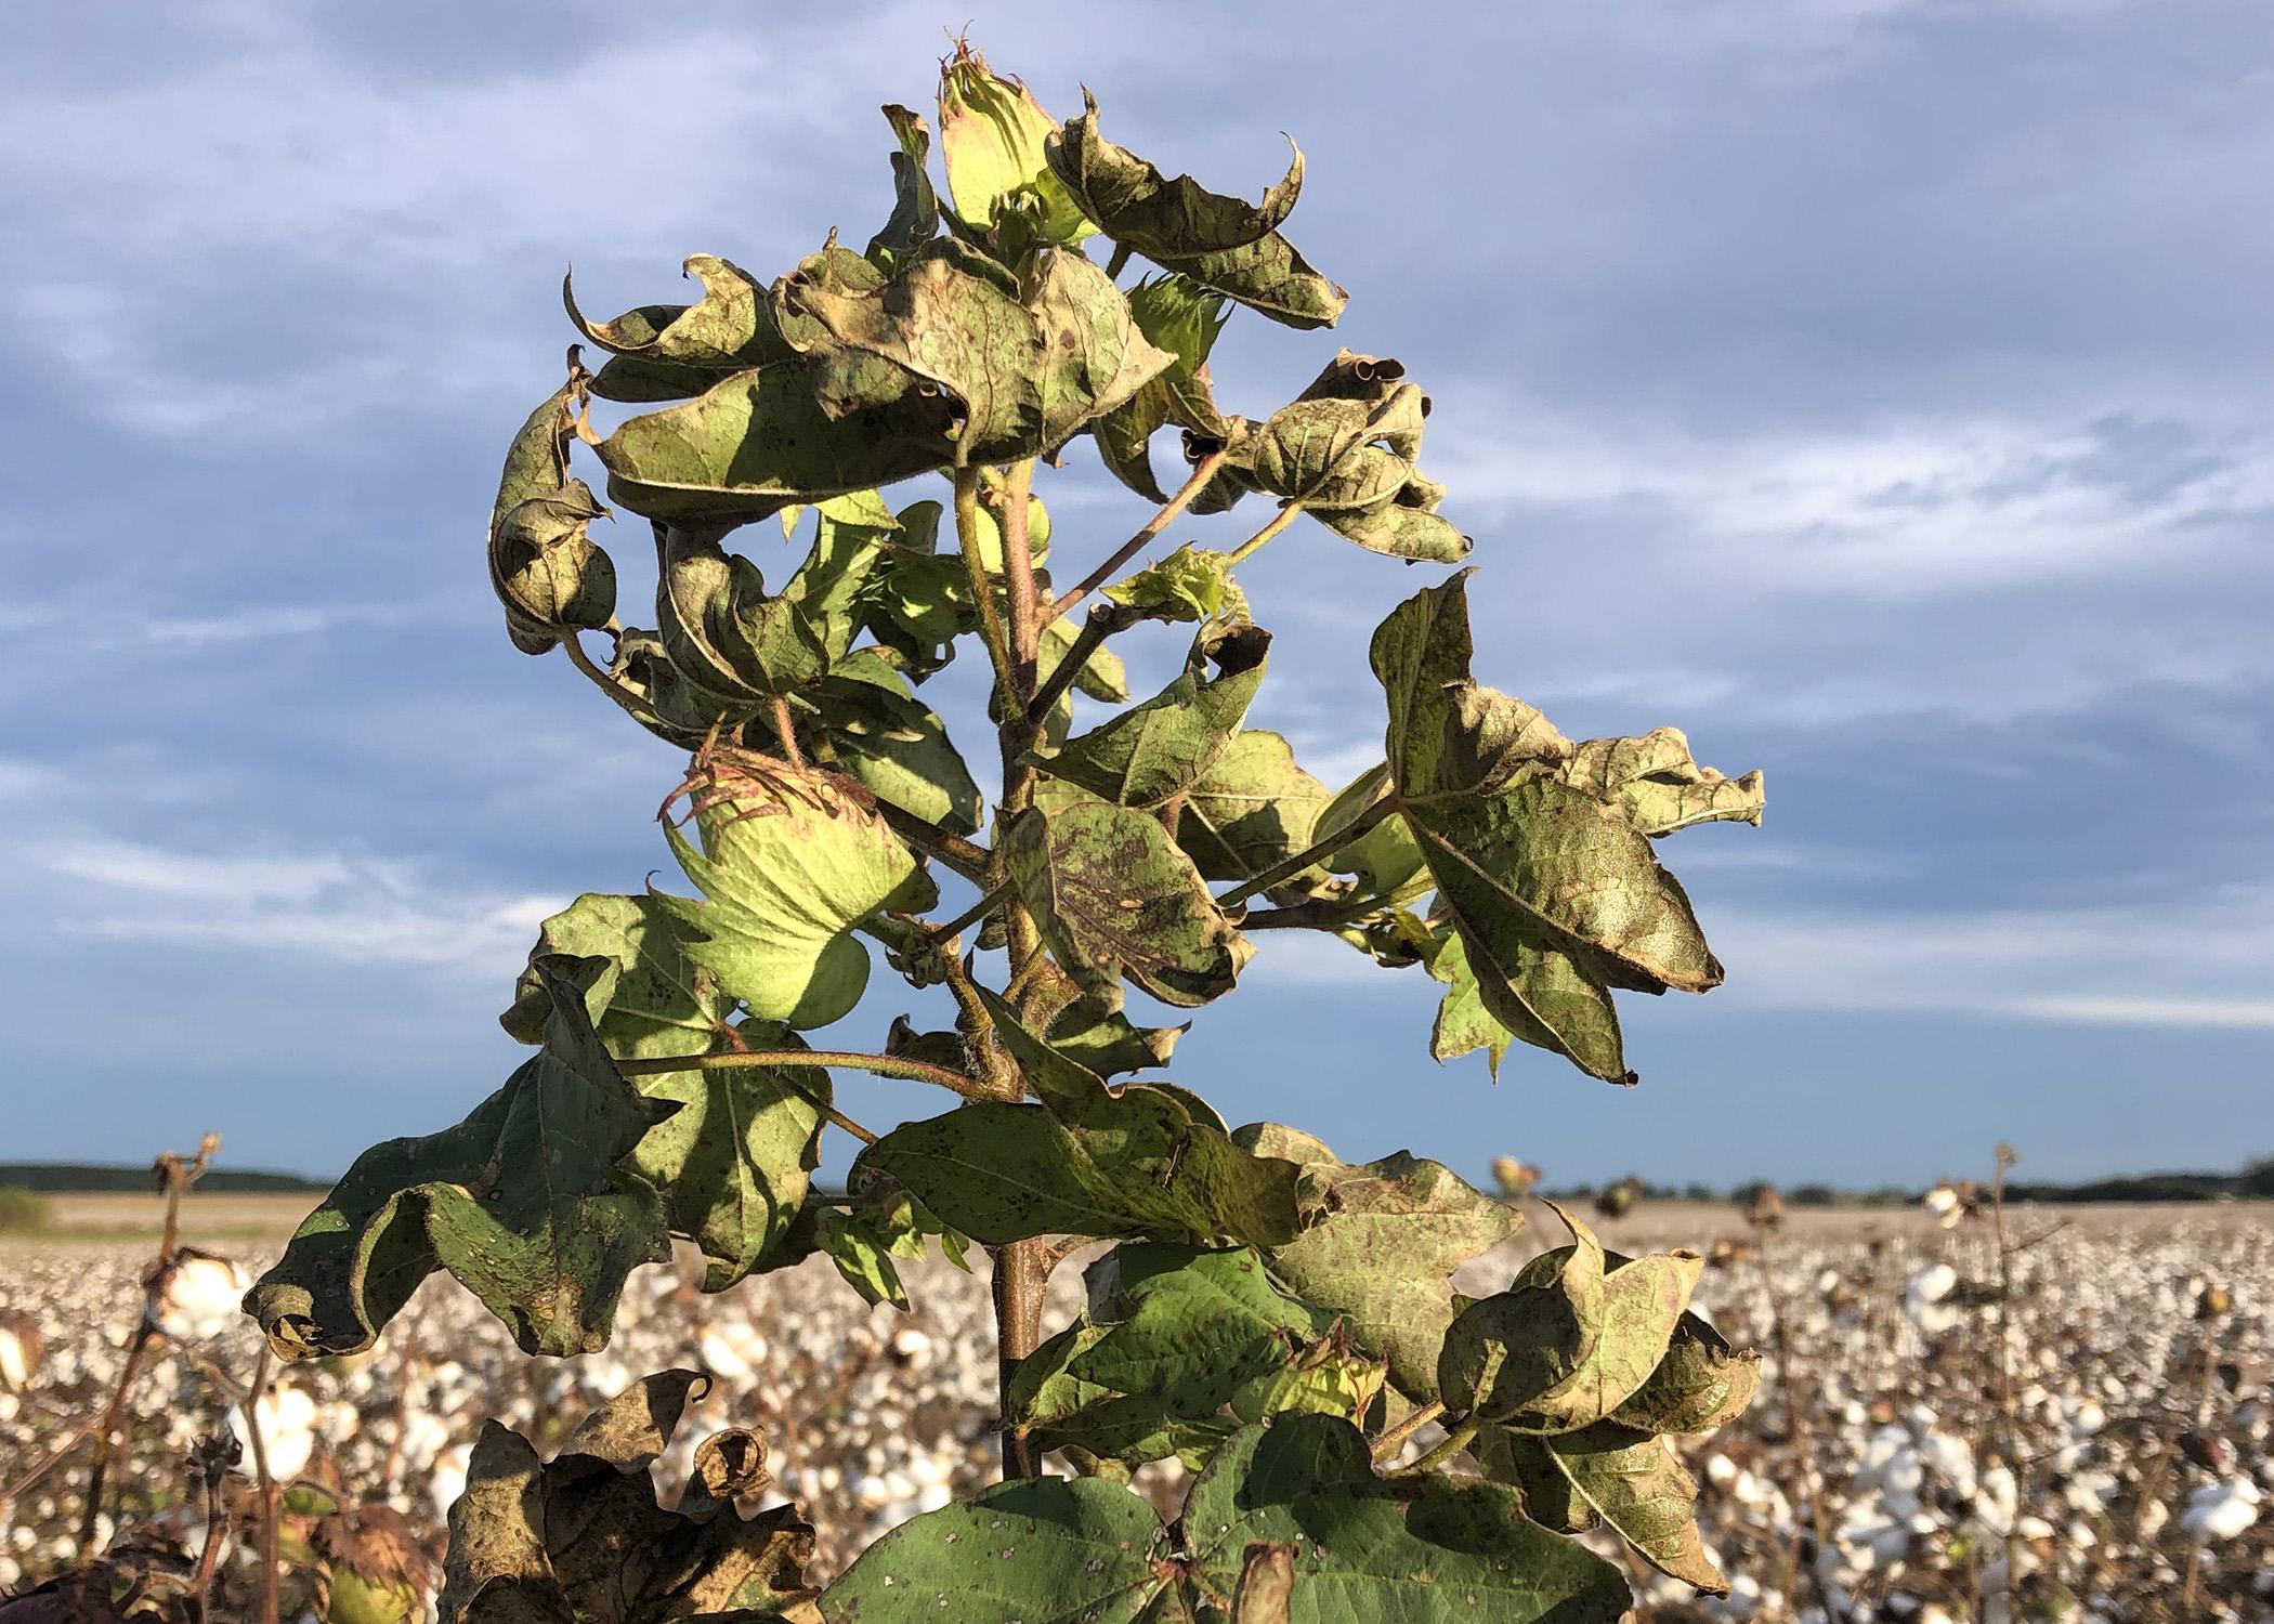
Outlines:
{"type": "Polygon", "coordinates": [[[1112,721],[1030,757],[1117,805],[1153,810],[1192,789],[1230,746],[1264,680],[1271,632],[1228,625],[1194,639],[1185,673],[1112,721]],[[1207,666],[1217,676],[1207,676],[1207,666]]]}

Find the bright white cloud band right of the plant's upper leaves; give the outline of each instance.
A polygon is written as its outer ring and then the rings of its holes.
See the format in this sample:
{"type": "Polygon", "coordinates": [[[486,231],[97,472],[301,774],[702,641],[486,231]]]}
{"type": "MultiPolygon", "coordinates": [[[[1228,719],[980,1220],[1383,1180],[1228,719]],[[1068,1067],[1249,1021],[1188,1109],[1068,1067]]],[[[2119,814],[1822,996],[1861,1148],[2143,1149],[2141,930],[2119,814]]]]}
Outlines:
{"type": "Polygon", "coordinates": [[[1919,598],[2172,569],[2274,514],[2274,441],[2140,421],[1903,419],[1712,439],[1469,400],[1437,457],[1469,505],[1619,509],[1783,596],[1919,598]]]}

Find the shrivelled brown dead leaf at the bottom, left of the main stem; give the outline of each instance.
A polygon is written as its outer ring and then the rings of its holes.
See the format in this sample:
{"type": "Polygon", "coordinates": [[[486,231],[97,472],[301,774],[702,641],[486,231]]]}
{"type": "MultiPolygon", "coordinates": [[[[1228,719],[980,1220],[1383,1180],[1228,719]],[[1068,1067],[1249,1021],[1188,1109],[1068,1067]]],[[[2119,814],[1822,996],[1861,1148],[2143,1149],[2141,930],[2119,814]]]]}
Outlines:
{"type": "Polygon", "coordinates": [[[812,1619],[814,1531],[796,1506],[741,1517],[766,1483],[757,1433],[714,1433],[694,1451],[675,1508],[650,1469],[707,1376],[648,1376],[594,1410],[543,1463],[487,1422],[450,1508],[443,1624],[664,1624],[687,1617],[812,1619]]]}

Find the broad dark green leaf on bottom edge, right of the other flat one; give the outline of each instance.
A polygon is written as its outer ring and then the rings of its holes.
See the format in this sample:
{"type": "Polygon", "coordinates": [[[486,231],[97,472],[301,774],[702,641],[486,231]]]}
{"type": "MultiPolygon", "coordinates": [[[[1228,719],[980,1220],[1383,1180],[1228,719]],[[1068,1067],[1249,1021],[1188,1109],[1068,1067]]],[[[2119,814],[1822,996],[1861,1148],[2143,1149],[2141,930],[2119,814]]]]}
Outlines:
{"type": "Polygon", "coordinates": [[[1348,1422],[1287,1415],[1226,1444],[1182,1517],[1194,1599],[1230,1608],[1255,1544],[1296,1547],[1292,1624],[1617,1624],[1617,1567],[1524,1519],[1499,1483],[1373,1476],[1348,1422]]]}

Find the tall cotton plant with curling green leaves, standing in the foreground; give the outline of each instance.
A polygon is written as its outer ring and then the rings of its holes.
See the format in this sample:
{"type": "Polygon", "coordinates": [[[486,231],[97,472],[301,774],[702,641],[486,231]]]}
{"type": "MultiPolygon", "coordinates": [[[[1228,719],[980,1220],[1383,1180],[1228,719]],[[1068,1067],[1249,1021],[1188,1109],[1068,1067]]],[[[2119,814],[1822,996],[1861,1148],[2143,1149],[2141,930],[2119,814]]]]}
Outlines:
{"type": "Polygon", "coordinates": [[[714,1437],[657,1506],[648,1465],[700,1381],[666,1372],[550,1460],[480,1435],[453,1624],[1610,1624],[1626,1583],[1567,1538],[1596,1522],[1721,1583],[1667,1440],[1737,1415],[1760,1367],[1690,1310],[1694,1256],[1624,1258],[1567,1219],[1571,1244],[1512,1269],[1514,1208],[1408,1151],[1233,1133],[1194,1087],[1205,1014],[1187,1035],[1128,999],[1201,1010],[1258,942],[1317,930],[1435,994],[1437,1060],[1499,1076],[1521,1042],[1633,1080],[1612,992],[1721,980],[1655,842],[1758,823],[1760,776],[1674,728],[1571,741],[1480,687],[1469,573],[1435,573],[1471,539],[1421,471],[1421,387],[1346,348],[1294,400],[1212,375],[1239,307],[1342,316],[1285,237],[1301,152],[1251,202],[1082,105],[1055,123],[957,41],[935,123],[885,107],[889,196],[846,209],[882,221],[864,250],[778,243],[769,275],[696,255],[684,303],[605,321],[564,284],[582,343],[512,437],[489,578],[516,648],[559,648],[684,755],[653,787],[687,887],[634,867],[562,898],[503,1014],[537,1053],[455,1128],[357,1158],[246,1299],[280,1358],[359,1353],[448,1271],[559,1356],[607,1342],[673,1240],[709,1292],[819,1253],[903,1310],[935,1242],[957,1267],[978,1244],[1012,1481],[814,1590],[796,1508],[730,1506],[764,1485],[755,1435],[714,1437]],[[1037,496],[1092,453],[1160,509],[1037,496]],[[587,455],[653,535],[646,625],[619,619],[648,582],[628,594],[591,537],[612,514],[587,455]],[[1178,532],[1251,496],[1244,541],[1178,532]],[[1433,573],[1373,632],[1380,760],[1339,792],[1303,760],[1348,764],[1351,739],[1251,726],[1344,701],[1283,689],[1242,582],[1312,521],[1433,573]],[[1167,682],[1130,703],[1130,669],[1167,682]],[[919,1092],[871,1105],[889,1087],[919,1092]],[[814,1180],[832,1130],[860,1144],[844,1190],[814,1180]],[[1082,1249],[1087,1306],[1046,1324],[1082,1249]],[[1073,1481],[1037,1476],[1053,1453],[1073,1481]],[[1458,1456],[1483,1481],[1439,1469],[1458,1456]],[[1167,1519],[1123,1488],[1164,1458],[1194,1474],[1167,1519]]]}

